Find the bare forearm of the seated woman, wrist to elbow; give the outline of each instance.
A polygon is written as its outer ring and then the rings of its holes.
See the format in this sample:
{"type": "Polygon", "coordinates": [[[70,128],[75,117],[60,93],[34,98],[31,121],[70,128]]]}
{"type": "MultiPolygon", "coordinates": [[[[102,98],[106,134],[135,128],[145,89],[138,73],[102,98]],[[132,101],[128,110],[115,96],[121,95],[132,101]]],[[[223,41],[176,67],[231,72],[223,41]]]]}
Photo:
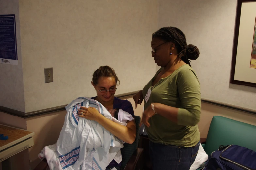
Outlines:
{"type": "Polygon", "coordinates": [[[134,142],[136,137],[136,125],[134,120],[128,121],[127,126],[123,126],[101,115],[97,119],[97,122],[124,142],[129,144],[134,142]]]}

